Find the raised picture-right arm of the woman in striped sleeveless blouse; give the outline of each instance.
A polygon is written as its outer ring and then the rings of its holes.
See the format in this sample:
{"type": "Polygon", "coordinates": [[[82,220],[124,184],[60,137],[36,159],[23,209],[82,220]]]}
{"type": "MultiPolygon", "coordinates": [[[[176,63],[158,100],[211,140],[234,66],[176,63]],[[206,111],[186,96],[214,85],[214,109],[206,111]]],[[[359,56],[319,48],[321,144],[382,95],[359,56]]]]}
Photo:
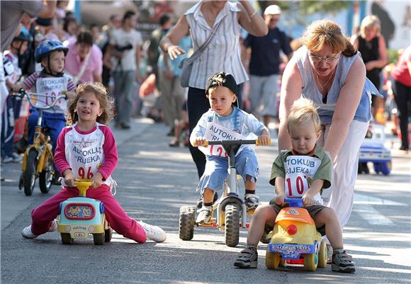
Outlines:
{"type": "Polygon", "coordinates": [[[249,4],[249,1],[240,0],[242,6],[239,5],[241,11],[238,13],[238,23],[256,37],[264,37],[269,33],[269,28],[264,22],[264,19],[256,13],[254,8],[249,4]]]}

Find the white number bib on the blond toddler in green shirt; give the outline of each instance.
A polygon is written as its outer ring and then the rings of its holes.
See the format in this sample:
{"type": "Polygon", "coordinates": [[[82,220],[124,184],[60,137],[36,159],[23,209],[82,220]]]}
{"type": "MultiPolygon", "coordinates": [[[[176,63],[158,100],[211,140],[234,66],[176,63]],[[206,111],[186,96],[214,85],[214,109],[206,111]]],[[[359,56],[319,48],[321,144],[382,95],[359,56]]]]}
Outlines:
{"type": "MultiPolygon", "coordinates": [[[[288,156],[284,163],[287,197],[298,198],[303,196],[310,188],[320,164],[321,160],[315,157],[288,156]]],[[[316,204],[322,204],[320,193],[315,195],[314,199],[316,204]]]]}

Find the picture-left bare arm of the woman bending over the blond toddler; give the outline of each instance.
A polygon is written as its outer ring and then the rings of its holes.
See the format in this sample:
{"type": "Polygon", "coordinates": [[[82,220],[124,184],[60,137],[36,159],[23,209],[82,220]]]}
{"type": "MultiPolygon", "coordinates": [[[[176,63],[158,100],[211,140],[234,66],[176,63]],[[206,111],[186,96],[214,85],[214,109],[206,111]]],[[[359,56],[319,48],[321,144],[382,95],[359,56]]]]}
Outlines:
{"type": "Polygon", "coordinates": [[[297,64],[291,60],[284,70],[281,81],[280,113],[278,115],[280,119],[280,126],[278,127],[278,151],[291,149],[291,140],[287,129],[288,115],[290,114],[294,101],[300,98],[302,89],[303,80],[301,79],[297,64]]]}

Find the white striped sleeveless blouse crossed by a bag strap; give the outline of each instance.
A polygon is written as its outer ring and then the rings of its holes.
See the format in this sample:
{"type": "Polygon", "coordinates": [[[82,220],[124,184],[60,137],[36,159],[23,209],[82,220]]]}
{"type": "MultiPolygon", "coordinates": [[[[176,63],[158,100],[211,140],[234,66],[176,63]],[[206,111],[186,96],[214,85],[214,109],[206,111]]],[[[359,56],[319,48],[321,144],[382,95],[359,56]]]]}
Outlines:
{"type": "MultiPolygon", "coordinates": [[[[201,12],[200,1],[184,15],[190,27],[193,50],[198,50],[210,36],[211,28],[205,21],[201,12]]],[[[218,27],[213,39],[193,62],[188,86],[205,89],[208,78],[217,72],[226,72],[234,76],[237,84],[248,80],[247,72],[240,57],[240,32],[241,25],[237,21],[237,12],[240,12],[237,3],[227,2],[215,18],[214,26],[223,21],[218,27]]]]}

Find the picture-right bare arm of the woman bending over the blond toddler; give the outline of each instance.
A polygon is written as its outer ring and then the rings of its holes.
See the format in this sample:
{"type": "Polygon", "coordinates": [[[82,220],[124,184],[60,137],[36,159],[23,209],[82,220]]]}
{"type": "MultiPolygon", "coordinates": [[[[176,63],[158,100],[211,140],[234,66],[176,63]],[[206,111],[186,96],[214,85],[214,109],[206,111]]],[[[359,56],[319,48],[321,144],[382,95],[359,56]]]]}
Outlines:
{"type": "Polygon", "coordinates": [[[360,57],[357,57],[351,65],[344,86],[339,92],[332,123],[327,140],[324,144],[325,151],[330,152],[332,161],[341,149],[347,137],[349,124],[354,118],[356,108],[361,101],[361,94],[366,80],[366,68],[360,57]]]}

